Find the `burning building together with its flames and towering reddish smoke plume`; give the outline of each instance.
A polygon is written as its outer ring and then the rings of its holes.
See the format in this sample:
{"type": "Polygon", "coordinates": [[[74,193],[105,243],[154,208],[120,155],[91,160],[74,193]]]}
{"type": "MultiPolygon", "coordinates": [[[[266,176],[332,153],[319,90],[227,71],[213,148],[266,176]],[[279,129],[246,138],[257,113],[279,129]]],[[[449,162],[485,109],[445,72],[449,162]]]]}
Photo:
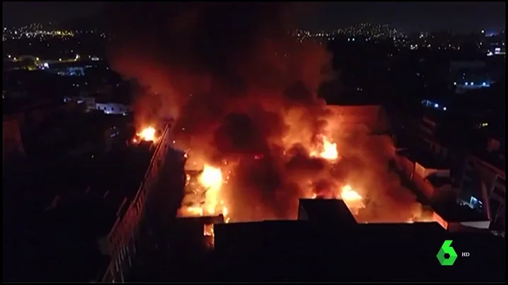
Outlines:
{"type": "Polygon", "coordinates": [[[333,78],[331,55],[287,33],[292,8],[182,3],[111,11],[120,24],[112,67],[149,86],[134,106],[137,121],[173,116],[175,146],[187,150],[180,216],[296,219],[299,198],[338,197],[369,219],[418,217],[420,205],[389,169],[383,109],[330,107],[317,96],[333,78]]]}

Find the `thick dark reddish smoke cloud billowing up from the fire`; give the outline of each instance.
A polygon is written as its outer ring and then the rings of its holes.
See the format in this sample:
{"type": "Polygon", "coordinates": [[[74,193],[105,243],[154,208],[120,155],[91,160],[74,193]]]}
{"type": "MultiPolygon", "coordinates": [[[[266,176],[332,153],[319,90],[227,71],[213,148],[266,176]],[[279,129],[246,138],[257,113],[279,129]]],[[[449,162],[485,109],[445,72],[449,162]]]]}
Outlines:
{"type": "Polygon", "coordinates": [[[400,187],[366,137],[346,143],[352,158],[338,164],[309,156],[330,122],[316,90],[332,73],[320,44],[291,37],[295,8],[132,2],[108,12],[112,67],[148,87],[135,102],[137,123],[173,116],[175,140],[191,160],[234,164],[226,194],[238,220],[294,217],[298,198],[329,195],[347,179],[375,181],[364,189],[400,187]]]}

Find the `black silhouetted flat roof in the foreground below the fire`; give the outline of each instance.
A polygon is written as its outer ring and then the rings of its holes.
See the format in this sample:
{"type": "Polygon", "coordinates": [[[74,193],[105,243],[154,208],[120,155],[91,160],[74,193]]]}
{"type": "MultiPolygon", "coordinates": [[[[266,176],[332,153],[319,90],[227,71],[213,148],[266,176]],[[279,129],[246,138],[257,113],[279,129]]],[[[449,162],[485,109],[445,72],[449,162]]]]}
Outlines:
{"type": "Polygon", "coordinates": [[[472,246],[492,238],[450,234],[436,223],[351,228],[306,221],[221,224],[215,231],[214,275],[224,281],[502,280],[502,238],[487,251],[472,246]],[[439,265],[436,255],[446,239],[471,258],[459,258],[456,267],[439,265]],[[475,274],[463,274],[465,268],[475,274]]]}

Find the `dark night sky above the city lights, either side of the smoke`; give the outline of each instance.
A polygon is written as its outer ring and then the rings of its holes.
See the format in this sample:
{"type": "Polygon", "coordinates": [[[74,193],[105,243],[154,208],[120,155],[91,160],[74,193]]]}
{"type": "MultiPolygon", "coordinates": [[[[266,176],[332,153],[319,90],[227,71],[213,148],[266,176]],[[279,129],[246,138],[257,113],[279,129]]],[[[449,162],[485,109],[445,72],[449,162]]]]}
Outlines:
{"type": "MultiPolygon", "coordinates": [[[[4,25],[58,21],[97,13],[105,1],[2,2],[4,25]]],[[[469,32],[505,27],[506,8],[499,2],[315,2],[301,16],[301,28],[334,30],[355,23],[387,23],[407,32],[469,32]]]]}

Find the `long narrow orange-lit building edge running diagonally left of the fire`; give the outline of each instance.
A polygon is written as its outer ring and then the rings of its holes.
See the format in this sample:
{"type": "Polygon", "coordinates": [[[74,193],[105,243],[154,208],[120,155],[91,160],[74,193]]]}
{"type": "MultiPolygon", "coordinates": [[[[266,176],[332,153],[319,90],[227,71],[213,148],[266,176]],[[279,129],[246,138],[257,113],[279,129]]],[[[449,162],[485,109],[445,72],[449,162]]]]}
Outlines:
{"type": "MultiPolygon", "coordinates": [[[[146,196],[149,194],[149,191],[152,188],[151,186],[153,186],[156,181],[159,169],[165,163],[168,147],[170,145],[170,128],[171,123],[167,123],[164,127],[160,140],[157,142],[154,155],[151,157],[149,167],[146,170],[144,179],[139,186],[134,199],[130,202],[127,210],[119,210],[120,214],[118,215],[115,224],[112,226],[110,234],[107,236],[107,244],[111,261],[108,265],[107,271],[101,278],[101,281],[103,282],[112,281],[111,278],[117,271],[115,270],[118,266],[116,262],[120,262],[119,255],[121,254],[122,248],[127,247],[132,241],[132,238],[137,234],[137,226],[139,226],[139,222],[142,221],[142,216],[144,214],[146,196]]],[[[121,270],[122,269],[120,269],[120,271],[121,270]]],[[[121,272],[120,275],[123,276],[121,272]]]]}

